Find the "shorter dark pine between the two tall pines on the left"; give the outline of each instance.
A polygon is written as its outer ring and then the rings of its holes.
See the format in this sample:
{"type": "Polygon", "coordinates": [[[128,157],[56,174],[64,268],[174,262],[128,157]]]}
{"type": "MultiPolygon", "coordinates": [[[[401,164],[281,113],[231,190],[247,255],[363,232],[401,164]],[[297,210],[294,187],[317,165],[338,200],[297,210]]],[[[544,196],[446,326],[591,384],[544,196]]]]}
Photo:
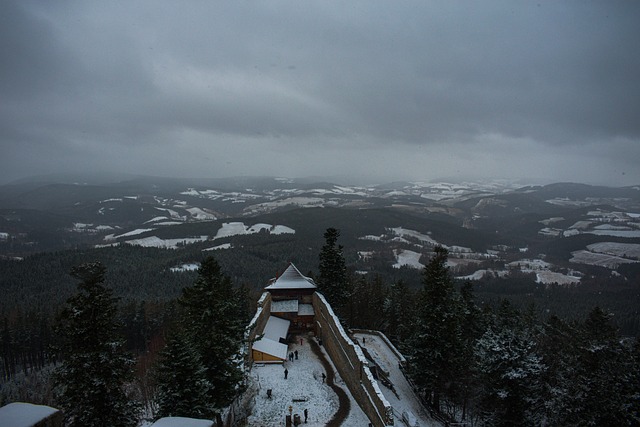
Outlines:
{"type": "Polygon", "coordinates": [[[191,343],[181,335],[169,339],[156,367],[157,418],[209,415],[206,369],[191,343]]]}

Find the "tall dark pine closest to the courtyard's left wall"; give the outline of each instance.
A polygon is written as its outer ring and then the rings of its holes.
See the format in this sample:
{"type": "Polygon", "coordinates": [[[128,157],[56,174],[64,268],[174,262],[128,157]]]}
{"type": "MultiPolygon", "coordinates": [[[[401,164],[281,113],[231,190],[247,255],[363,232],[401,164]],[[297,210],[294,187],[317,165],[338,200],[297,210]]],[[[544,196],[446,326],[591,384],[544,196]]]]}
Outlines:
{"type": "Polygon", "coordinates": [[[219,416],[231,403],[243,379],[239,356],[245,327],[242,295],[209,256],[202,261],[193,285],[183,289],[178,300],[184,309],[183,332],[205,367],[211,416],[219,416]]]}

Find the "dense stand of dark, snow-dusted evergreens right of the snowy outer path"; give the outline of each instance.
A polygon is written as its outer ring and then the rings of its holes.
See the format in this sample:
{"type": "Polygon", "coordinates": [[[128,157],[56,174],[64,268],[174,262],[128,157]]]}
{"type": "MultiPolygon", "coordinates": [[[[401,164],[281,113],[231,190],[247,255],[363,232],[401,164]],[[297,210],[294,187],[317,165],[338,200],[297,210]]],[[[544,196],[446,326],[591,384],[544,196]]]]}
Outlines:
{"type": "Polygon", "coordinates": [[[401,343],[425,402],[473,425],[640,423],[640,352],[596,307],[584,321],[481,310],[459,290],[436,248],[423,272],[412,332],[401,343]]]}

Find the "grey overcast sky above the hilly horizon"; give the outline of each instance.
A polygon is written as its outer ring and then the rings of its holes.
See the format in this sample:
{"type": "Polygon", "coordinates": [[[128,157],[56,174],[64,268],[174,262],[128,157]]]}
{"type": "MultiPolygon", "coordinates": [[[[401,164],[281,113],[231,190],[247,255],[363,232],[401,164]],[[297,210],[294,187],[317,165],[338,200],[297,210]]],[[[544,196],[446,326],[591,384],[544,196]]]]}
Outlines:
{"type": "Polygon", "coordinates": [[[0,183],[640,184],[638,1],[0,2],[0,183]]]}

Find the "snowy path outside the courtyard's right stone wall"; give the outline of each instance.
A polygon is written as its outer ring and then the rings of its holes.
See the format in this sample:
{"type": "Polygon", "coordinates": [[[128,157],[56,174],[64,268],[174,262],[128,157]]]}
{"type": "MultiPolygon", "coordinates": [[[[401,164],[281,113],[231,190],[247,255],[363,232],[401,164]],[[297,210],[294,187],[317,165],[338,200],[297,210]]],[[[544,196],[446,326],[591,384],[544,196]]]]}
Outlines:
{"type": "Polygon", "coordinates": [[[387,343],[376,334],[356,333],[354,336],[358,339],[360,346],[363,346],[362,338],[365,338],[366,343],[364,344],[364,348],[367,349],[380,367],[389,372],[389,380],[398,395],[396,396],[380,382],[378,384],[380,384],[382,394],[384,394],[387,401],[393,406],[395,425],[406,425],[402,421],[402,412],[409,410],[418,419],[421,427],[440,426],[440,423],[433,420],[418,401],[404,374],[400,371],[398,357],[391,348],[389,348],[387,343]]]}

